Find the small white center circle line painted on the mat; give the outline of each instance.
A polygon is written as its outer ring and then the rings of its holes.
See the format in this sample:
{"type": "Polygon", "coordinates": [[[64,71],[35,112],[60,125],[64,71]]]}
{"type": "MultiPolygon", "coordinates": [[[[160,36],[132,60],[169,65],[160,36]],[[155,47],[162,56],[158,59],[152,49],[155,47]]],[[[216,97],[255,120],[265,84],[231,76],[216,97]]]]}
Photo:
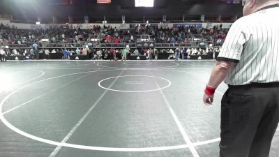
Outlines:
{"type": "Polygon", "coordinates": [[[149,76],[149,75],[124,75],[124,76],[116,76],[116,77],[108,77],[104,80],[100,80],[100,82],[98,82],[98,86],[101,87],[102,89],[106,89],[106,90],[110,90],[110,91],[119,91],[119,92],[126,92],[126,93],[142,93],[142,92],[149,92],[149,91],[158,91],[158,90],[162,90],[162,89],[166,89],[167,87],[169,87],[170,85],[172,85],[172,82],[170,82],[169,80],[162,78],[162,77],[155,77],[155,76],[149,76]],[[158,78],[161,80],[165,80],[167,81],[169,84],[167,84],[167,86],[162,87],[162,88],[158,88],[158,89],[151,89],[151,90],[146,90],[146,91],[122,91],[122,90],[116,90],[116,89],[109,89],[106,87],[103,87],[101,85],[101,82],[105,81],[105,80],[110,80],[113,78],[117,78],[117,77],[153,77],[153,78],[158,78]]]}

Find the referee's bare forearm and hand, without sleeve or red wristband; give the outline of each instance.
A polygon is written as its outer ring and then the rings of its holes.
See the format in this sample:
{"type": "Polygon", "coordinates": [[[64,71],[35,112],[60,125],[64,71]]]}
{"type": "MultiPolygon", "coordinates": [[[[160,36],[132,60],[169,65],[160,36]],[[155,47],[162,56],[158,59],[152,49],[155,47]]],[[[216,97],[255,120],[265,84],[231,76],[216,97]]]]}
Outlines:
{"type": "MultiPolygon", "coordinates": [[[[212,89],[217,89],[217,87],[221,82],[223,82],[223,80],[227,76],[227,73],[229,73],[229,70],[231,70],[233,65],[234,63],[230,61],[216,61],[209,79],[208,86],[212,89]]],[[[204,94],[204,104],[212,105],[213,96],[214,95],[204,94]]]]}

